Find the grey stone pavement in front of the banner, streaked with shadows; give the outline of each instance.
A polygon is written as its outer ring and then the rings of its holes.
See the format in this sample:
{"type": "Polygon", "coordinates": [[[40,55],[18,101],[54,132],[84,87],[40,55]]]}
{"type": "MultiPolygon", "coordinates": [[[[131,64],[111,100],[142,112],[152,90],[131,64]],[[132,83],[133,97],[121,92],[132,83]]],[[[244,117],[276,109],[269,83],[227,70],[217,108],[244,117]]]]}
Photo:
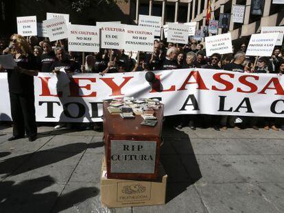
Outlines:
{"type": "Polygon", "coordinates": [[[38,127],[8,142],[0,125],[0,212],[284,212],[284,131],[165,128],[167,203],[100,203],[102,132],[38,127]]]}

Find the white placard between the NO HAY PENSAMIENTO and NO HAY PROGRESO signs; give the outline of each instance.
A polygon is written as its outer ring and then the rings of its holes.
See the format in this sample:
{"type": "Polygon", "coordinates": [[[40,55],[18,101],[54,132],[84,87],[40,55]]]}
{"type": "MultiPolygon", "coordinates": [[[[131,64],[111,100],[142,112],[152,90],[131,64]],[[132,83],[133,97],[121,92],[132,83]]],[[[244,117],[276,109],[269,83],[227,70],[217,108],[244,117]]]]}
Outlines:
{"type": "Polygon", "coordinates": [[[189,38],[189,26],[170,23],[167,30],[167,42],[187,44],[189,38]]]}

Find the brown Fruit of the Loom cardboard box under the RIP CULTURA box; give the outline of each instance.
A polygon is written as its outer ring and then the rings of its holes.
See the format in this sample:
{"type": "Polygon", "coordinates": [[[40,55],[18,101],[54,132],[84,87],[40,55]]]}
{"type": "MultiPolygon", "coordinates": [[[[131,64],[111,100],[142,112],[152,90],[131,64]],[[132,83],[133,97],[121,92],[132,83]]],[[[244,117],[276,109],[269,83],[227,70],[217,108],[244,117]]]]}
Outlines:
{"type": "Polygon", "coordinates": [[[101,201],[108,208],[165,204],[167,175],[163,166],[159,168],[156,181],[108,179],[106,160],[102,162],[101,201]]]}

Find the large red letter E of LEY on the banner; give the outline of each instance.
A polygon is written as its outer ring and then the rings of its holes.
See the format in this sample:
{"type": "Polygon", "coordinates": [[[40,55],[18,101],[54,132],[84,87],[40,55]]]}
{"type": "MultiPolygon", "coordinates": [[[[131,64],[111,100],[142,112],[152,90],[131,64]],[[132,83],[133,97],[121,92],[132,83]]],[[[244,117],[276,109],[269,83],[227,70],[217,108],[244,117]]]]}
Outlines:
{"type": "Polygon", "coordinates": [[[86,84],[86,86],[80,86],[79,81],[80,80],[88,80],[90,82],[95,83],[95,78],[88,78],[88,77],[80,77],[80,78],[73,78],[71,79],[71,82],[69,83],[70,86],[70,95],[69,97],[97,97],[97,92],[91,92],[90,95],[80,95],[79,91],[80,88],[85,88],[86,90],[91,90],[91,84],[86,84]]]}

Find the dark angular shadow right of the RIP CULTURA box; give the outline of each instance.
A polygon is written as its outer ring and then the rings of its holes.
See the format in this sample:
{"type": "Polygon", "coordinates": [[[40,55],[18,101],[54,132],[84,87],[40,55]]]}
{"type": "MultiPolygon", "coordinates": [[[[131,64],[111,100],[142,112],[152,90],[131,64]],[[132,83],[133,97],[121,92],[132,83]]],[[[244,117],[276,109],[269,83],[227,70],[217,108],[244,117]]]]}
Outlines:
{"type": "Polygon", "coordinates": [[[161,163],[168,175],[166,202],[202,177],[189,136],[174,128],[170,131],[174,137],[165,138],[161,147],[161,163]]]}

